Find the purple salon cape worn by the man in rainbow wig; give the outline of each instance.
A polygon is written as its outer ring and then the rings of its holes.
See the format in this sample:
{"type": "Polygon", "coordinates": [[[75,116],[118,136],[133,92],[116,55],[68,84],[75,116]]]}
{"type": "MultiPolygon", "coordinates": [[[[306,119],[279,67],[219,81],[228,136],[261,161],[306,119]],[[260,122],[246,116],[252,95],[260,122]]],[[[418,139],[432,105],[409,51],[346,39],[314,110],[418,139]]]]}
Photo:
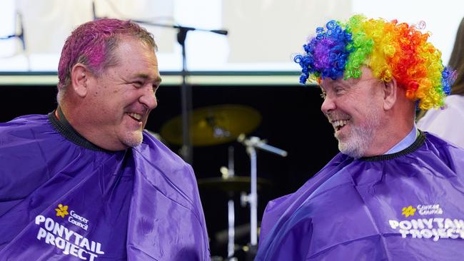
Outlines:
{"type": "Polygon", "coordinates": [[[339,153],[268,203],[256,260],[464,260],[464,150],[420,133],[409,148],[339,153]]]}

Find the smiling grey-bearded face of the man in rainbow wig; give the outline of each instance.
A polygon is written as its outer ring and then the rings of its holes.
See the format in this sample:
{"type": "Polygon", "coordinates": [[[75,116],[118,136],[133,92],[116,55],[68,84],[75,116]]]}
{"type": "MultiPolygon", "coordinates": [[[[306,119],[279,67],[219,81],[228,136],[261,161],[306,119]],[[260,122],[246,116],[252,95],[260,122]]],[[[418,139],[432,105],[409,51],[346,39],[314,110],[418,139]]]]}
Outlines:
{"type": "Polygon", "coordinates": [[[369,68],[358,79],[326,78],[321,81],[324,102],[321,110],[335,130],[338,149],[361,158],[375,146],[375,135],[383,120],[381,86],[369,68]]]}

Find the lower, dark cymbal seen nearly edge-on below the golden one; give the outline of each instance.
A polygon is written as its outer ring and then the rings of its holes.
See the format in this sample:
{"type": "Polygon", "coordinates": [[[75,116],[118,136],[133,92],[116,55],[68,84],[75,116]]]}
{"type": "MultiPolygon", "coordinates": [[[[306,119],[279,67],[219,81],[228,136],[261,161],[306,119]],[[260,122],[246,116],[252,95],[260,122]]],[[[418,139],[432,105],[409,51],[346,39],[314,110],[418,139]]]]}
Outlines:
{"type": "MultiPolygon", "coordinates": [[[[262,190],[265,187],[271,186],[270,180],[258,178],[256,180],[256,188],[262,190]]],[[[249,192],[251,186],[251,178],[244,176],[233,176],[229,178],[202,178],[198,180],[198,188],[205,190],[221,190],[223,192],[249,192]]]]}

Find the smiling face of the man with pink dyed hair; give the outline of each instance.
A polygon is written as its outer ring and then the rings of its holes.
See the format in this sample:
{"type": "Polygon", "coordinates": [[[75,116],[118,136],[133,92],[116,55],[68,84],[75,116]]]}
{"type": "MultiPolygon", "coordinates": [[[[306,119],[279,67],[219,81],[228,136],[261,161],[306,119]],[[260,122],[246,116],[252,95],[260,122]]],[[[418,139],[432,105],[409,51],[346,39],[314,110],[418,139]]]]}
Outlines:
{"type": "MultiPolygon", "coordinates": [[[[123,150],[142,142],[148,114],[156,108],[161,83],[152,47],[125,37],[115,50],[116,65],[91,76],[86,95],[85,133],[107,150],[123,150]]],[[[79,131],[80,133],[82,131],[79,131]]]]}

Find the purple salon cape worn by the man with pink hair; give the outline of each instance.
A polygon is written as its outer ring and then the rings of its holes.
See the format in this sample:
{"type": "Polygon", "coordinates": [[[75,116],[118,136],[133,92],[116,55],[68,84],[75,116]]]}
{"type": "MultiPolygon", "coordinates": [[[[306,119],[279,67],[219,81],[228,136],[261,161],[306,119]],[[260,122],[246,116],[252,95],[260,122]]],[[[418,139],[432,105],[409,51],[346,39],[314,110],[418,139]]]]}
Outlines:
{"type": "Polygon", "coordinates": [[[0,260],[210,259],[190,165],[145,132],[119,152],[82,139],[54,113],[0,123],[0,260]]]}

